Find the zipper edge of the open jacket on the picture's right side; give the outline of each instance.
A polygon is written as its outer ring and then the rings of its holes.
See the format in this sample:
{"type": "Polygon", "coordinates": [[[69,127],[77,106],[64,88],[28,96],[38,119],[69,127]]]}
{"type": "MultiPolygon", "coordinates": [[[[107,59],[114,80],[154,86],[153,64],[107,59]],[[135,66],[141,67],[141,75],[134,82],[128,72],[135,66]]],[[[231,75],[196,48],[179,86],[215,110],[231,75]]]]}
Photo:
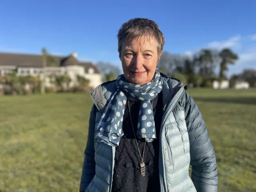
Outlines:
{"type": "MultiPolygon", "coordinates": [[[[178,92],[174,95],[173,98],[170,98],[168,101],[167,101],[167,109],[165,110],[165,113],[164,113],[164,118],[162,120],[162,125],[161,125],[161,129],[160,129],[160,152],[161,154],[159,155],[159,170],[160,170],[160,186],[161,186],[161,192],[167,192],[167,185],[166,185],[166,176],[165,176],[165,168],[164,168],[164,155],[163,155],[163,143],[162,143],[162,137],[164,135],[163,133],[163,129],[164,129],[164,124],[166,122],[166,119],[167,119],[167,116],[170,112],[172,112],[172,110],[174,109],[174,107],[176,106],[176,104],[179,102],[180,98],[183,96],[185,90],[187,89],[187,86],[182,86],[180,88],[180,90],[178,90],[178,92]],[[168,103],[170,101],[170,103],[168,103]],[[160,166],[162,163],[162,166],[160,166]]],[[[168,154],[169,154],[169,150],[168,150],[168,154]]],[[[170,155],[170,154],[169,154],[170,155]]]]}

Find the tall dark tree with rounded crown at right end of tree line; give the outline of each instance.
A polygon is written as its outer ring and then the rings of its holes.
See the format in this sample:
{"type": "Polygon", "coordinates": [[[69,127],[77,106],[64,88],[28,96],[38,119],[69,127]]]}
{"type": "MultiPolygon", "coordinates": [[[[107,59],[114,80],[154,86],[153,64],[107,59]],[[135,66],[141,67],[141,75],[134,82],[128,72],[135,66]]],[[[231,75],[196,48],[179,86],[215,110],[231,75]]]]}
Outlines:
{"type": "Polygon", "coordinates": [[[224,48],[219,53],[221,62],[220,62],[220,80],[225,79],[225,72],[228,70],[228,64],[235,64],[238,60],[238,55],[232,52],[229,48],[224,48]]]}

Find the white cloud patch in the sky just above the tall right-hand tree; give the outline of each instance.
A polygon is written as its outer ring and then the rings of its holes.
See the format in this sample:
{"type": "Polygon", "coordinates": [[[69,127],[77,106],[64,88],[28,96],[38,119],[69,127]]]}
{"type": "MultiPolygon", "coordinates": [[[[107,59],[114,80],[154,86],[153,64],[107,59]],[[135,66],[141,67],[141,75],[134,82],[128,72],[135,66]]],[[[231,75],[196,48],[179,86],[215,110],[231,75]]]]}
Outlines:
{"type": "Polygon", "coordinates": [[[228,40],[214,41],[208,44],[209,48],[223,49],[223,48],[234,48],[240,45],[241,35],[236,35],[228,40]]]}

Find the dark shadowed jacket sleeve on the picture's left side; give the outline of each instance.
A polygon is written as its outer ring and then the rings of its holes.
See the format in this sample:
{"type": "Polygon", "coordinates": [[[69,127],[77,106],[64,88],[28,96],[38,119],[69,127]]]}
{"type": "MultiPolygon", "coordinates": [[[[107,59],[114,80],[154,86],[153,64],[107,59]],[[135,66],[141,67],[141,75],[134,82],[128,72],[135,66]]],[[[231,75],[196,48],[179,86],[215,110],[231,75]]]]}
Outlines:
{"type": "Polygon", "coordinates": [[[96,107],[93,105],[90,112],[89,131],[86,148],[84,150],[84,164],[80,181],[80,192],[84,192],[95,175],[94,160],[94,130],[95,130],[96,107]]]}

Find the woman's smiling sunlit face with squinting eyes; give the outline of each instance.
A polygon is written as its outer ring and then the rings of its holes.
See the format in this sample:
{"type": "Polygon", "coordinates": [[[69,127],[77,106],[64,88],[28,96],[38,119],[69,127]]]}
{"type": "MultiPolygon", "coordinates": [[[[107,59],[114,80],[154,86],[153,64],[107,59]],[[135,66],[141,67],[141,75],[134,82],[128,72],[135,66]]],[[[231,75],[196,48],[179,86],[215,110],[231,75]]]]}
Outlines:
{"type": "Polygon", "coordinates": [[[128,82],[142,85],[152,80],[158,62],[157,47],[156,38],[146,36],[122,43],[120,59],[128,82]]]}

